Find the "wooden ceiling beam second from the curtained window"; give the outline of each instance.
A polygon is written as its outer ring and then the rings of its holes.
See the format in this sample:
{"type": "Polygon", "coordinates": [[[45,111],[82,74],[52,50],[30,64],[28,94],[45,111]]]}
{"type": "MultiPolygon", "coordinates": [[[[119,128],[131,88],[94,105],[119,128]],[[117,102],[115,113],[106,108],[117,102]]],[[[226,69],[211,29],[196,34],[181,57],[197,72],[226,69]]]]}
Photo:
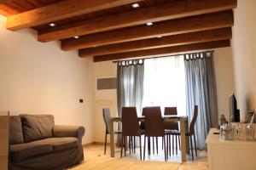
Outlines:
{"type": "Polygon", "coordinates": [[[199,42],[212,42],[230,39],[232,37],[231,27],[219,28],[209,31],[197,31],[178,34],[168,37],[155,37],[151,39],[138,40],[134,42],[116,43],[97,48],[79,49],[79,57],[92,57],[103,54],[116,54],[137,51],[149,48],[164,48],[177,45],[185,45],[199,42]]]}

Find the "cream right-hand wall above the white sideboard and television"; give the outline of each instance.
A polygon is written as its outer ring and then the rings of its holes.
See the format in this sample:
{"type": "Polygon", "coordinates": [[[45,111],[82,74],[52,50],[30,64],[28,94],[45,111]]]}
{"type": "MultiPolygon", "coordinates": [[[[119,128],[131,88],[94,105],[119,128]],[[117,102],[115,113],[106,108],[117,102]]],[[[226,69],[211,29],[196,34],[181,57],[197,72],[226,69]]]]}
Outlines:
{"type": "MultiPolygon", "coordinates": [[[[241,114],[256,109],[256,1],[238,0],[233,26],[236,99],[241,114]]],[[[241,116],[242,117],[242,116],[241,116]]]]}

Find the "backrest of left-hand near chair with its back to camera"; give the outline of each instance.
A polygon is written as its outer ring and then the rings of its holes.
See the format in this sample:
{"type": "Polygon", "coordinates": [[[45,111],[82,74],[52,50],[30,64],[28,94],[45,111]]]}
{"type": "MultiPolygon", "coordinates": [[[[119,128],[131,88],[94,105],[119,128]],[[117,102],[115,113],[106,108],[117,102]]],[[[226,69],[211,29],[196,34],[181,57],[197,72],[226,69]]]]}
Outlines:
{"type": "Polygon", "coordinates": [[[136,107],[123,107],[121,120],[123,136],[141,136],[136,107]]]}

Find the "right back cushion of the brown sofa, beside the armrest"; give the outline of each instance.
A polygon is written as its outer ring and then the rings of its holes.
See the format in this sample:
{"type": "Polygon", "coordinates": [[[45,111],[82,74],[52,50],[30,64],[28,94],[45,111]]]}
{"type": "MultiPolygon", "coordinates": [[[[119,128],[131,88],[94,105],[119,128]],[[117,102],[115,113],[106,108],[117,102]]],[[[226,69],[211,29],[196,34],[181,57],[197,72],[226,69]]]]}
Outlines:
{"type": "Polygon", "coordinates": [[[52,115],[20,115],[24,141],[32,142],[39,139],[52,137],[52,129],[55,125],[52,115]]]}

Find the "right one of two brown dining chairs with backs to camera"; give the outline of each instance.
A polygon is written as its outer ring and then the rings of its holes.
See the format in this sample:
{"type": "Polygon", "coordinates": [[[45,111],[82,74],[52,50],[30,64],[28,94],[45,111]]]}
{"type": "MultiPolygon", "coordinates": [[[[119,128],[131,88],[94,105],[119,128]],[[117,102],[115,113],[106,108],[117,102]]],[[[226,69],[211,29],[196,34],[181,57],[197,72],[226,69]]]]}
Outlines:
{"type": "Polygon", "coordinates": [[[160,107],[146,107],[144,108],[145,116],[145,135],[144,135],[144,152],[143,160],[145,160],[145,147],[146,139],[150,137],[162,137],[164,141],[164,152],[165,152],[165,161],[167,160],[166,154],[166,131],[164,127],[164,121],[161,116],[160,107]]]}

